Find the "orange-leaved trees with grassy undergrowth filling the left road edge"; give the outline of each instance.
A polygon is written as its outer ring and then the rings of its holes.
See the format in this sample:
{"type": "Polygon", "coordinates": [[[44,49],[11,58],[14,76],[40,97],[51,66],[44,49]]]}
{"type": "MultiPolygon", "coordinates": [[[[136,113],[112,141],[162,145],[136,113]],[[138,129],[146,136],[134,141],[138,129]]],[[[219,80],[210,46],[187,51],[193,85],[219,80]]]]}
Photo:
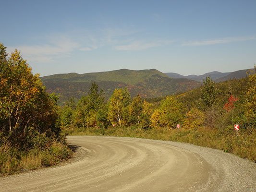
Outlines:
{"type": "Polygon", "coordinates": [[[0,44],[0,174],[26,168],[38,154],[41,159],[33,168],[68,158],[53,158],[53,148],[70,153],[58,126],[58,97],[45,91],[38,76],[20,52],[8,56],[0,44]]]}

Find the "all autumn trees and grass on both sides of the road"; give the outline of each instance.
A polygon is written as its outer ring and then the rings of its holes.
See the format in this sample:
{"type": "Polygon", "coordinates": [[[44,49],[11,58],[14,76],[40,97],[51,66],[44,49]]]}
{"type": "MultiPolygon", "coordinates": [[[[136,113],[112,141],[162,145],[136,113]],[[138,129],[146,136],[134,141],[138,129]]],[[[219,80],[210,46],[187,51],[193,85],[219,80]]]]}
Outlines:
{"type": "MultiPolygon", "coordinates": [[[[256,66],[255,66],[256,70],[256,66]]],[[[108,97],[109,98],[109,97],[108,97]]],[[[256,162],[256,74],[176,95],[109,99],[97,83],[60,107],[17,50],[0,44],[0,174],[56,165],[73,156],[66,135],[111,135],[192,143],[256,162]],[[176,128],[180,125],[179,130],[176,128]],[[234,124],[240,125],[238,136],[234,124]]]]}

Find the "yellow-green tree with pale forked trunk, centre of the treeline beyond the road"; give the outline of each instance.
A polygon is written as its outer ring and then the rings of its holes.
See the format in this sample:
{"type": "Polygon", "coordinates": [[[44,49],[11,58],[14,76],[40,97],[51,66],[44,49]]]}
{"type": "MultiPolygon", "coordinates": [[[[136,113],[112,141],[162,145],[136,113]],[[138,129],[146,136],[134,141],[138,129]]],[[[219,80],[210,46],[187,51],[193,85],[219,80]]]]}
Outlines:
{"type": "Polygon", "coordinates": [[[111,123],[118,122],[119,125],[127,123],[129,116],[129,105],[131,96],[127,88],[115,89],[110,97],[110,108],[108,119],[111,123]]]}

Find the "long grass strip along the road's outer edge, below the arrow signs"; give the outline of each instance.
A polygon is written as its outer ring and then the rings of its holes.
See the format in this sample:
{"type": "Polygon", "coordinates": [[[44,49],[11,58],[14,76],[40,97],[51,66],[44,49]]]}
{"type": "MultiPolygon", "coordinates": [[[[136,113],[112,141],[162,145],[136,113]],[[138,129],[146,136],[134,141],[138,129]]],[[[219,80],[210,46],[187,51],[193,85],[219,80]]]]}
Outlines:
{"type": "Polygon", "coordinates": [[[142,129],[137,126],[113,127],[102,129],[98,127],[63,129],[65,135],[108,135],[117,137],[136,137],[155,140],[184,142],[199,146],[219,149],[227,153],[247,158],[256,162],[256,130],[240,130],[238,137],[232,127],[226,129],[195,130],[152,127],[142,129]]]}

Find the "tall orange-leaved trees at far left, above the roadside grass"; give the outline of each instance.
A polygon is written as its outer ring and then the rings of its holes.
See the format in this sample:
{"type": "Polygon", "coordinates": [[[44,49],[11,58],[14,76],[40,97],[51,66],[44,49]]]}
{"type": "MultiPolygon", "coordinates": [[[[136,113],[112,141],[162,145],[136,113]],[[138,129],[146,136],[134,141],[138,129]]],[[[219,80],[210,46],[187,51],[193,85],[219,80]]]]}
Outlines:
{"type": "Polygon", "coordinates": [[[0,44],[0,134],[6,138],[4,142],[25,143],[27,130],[59,134],[55,126],[58,98],[45,91],[38,76],[20,52],[15,50],[8,57],[0,44]]]}

